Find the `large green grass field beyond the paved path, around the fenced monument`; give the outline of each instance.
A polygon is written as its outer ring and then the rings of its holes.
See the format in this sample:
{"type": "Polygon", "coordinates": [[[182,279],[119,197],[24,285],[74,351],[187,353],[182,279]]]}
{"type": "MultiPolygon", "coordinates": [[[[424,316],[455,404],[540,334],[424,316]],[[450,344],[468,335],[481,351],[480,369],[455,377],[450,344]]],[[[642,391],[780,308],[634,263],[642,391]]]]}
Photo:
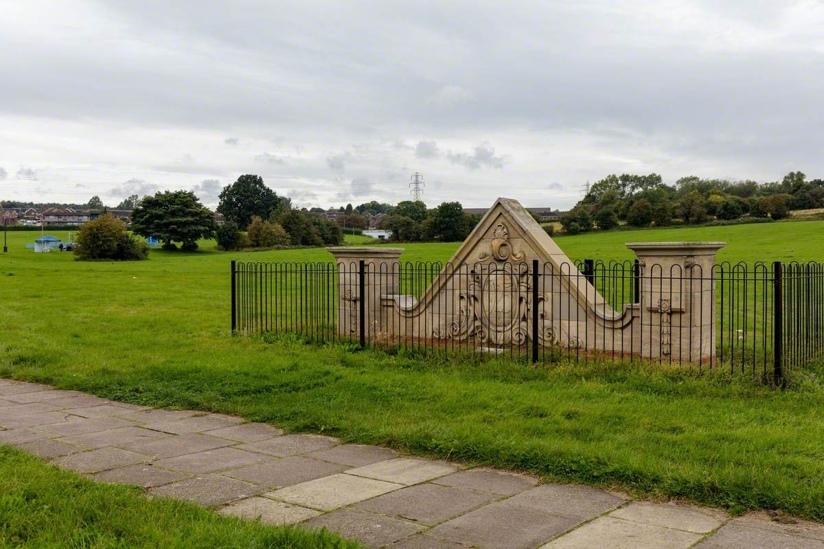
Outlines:
{"type": "MultiPolygon", "coordinates": [[[[417,454],[619,486],[728,509],[824,519],[824,384],[776,391],[644,365],[485,364],[229,333],[229,261],[329,260],[322,249],[152,250],[139,263],[0,254],[0,375],[195,407],[417,454]]],[[[557,239],[570,258],[631,258],[639,240],[724,240],[720,259],[824,259],[824,221],[557,239]]],[[[400,244],[444,261],[457,244],[400,244]]]]}

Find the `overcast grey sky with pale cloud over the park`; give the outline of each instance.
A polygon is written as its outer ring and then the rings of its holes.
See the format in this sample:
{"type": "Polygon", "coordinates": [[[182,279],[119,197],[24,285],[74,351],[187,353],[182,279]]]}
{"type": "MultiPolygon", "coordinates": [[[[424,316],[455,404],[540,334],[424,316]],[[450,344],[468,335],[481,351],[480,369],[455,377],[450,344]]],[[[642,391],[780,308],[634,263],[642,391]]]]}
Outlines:
{"type": "Polygon", "coordinates": [[[824,2],[3,2],[0,198],[302,206],[824,177],[824,2]]]}

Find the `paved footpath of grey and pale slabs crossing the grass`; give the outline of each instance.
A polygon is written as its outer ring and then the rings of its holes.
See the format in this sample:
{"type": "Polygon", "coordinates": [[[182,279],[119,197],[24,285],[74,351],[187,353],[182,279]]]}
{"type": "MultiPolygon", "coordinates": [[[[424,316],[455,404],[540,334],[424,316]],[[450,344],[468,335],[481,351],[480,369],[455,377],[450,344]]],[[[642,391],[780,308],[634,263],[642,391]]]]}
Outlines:
{"type": "Polygon", "coordinates": [[[824,549],[818,523],[632,501],[589,486],[398,456],[240,417],[0,379],[0,444],[98,481],[393,549],[824,549]]]}

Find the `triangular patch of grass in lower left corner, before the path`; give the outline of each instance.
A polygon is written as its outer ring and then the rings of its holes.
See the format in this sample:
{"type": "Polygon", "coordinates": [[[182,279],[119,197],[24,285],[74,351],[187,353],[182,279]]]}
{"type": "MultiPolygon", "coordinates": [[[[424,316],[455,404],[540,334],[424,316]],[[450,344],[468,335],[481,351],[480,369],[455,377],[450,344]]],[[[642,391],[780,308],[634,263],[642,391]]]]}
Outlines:
{"type": "Polygon", "coordinates": [[[147,500],[0,446],[0,547],[357,549],[325,531],[265,526],[193,503],[147,500]]]}

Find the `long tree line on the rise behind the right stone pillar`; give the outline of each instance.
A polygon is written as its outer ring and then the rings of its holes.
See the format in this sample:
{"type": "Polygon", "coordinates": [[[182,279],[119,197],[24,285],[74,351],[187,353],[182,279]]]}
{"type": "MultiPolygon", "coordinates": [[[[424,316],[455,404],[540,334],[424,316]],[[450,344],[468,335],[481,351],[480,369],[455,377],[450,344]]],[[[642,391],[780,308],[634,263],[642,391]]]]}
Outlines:
{"type": "Polygon", "coordinates": [[[658,174],[611,174],[561,218],[564,231],[577,234],[629,226],[697,225],[747,217],[784,219],[790,210],[824,207],[824,179],[808,180],[800,171],[780,182],[702,179],[695,176],[667,185],[658,174]]]}

